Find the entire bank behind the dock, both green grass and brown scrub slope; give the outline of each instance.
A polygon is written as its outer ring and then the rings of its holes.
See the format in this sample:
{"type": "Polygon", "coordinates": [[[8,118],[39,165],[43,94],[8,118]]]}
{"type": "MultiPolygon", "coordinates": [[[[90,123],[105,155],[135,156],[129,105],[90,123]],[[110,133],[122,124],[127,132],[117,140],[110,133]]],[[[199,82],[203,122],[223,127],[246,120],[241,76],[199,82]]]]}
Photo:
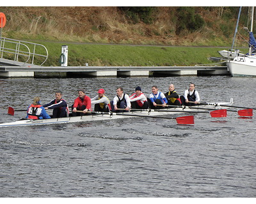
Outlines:
{"type": "MultiPolygon", "coordinates": [[[[195,66],[211,63],[208,58],[219,57],[217,51],[222,48],[189,46],[230,46],[239,7],[2,6],[0,9],[6,15],[3,37],[45,45],[49,59],[44,66],[60,65],[61,45],[68,45],[68,66],[86,63],[195,66]],[[168,47],[171,45],[188,47],[168,47]]],[[[247,15],[248,9],[244,7],[239,27],[246,26],[247,15]]],[[[239,33],[248,38],[243,29],[239,33]]],[[[243,45],[242,41],[237,38],[236,46],[243,45]]]]}

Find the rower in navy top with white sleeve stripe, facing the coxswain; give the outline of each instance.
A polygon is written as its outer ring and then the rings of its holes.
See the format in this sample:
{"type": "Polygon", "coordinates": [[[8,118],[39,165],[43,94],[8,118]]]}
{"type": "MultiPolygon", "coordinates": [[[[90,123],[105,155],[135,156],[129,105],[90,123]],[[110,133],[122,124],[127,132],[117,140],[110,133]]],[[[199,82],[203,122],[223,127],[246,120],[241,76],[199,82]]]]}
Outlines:
{"type": "Polygon", "coordinates": [[[43,105],[43,107],[45,110],[53,109],[52,118],[68,117],[69,115],[68,105],[65,99],[62,98],[61,91],[56,91],[55,99],[52,99],[50,103],[43,105]]]}

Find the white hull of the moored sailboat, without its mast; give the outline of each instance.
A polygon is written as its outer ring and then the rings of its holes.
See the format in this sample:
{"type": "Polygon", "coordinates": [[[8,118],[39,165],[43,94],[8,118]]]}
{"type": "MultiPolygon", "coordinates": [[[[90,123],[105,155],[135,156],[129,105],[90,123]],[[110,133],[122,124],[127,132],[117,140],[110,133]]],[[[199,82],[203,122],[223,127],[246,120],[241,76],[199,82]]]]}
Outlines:
{"type": "Polygon", "coordinates": [[[256,77],[256,57],[236,57],[227,62],[232,77],[256,77]]]}

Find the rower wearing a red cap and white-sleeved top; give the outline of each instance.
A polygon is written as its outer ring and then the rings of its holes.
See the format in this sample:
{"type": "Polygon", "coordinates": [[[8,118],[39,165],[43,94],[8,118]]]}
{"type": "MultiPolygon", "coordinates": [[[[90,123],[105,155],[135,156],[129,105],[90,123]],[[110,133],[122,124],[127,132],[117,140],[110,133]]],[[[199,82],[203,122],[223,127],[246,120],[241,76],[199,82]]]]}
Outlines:
{"type": "Polygon", "coordinates": [[[99,89],[98,95],[91,99],[91,104],[94,104],[94,111],[109,112],[111,110],[110,101],[104,94],[105,90],[99,89]]]}

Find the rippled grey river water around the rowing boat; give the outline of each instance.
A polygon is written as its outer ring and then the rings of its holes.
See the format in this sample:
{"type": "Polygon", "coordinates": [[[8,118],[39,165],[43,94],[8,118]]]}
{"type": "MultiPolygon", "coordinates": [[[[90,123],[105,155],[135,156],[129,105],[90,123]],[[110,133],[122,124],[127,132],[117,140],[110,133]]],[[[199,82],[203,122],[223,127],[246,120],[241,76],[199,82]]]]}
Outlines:
{"type": "MultiPolygon", "coordinates": [[[[118,86],[131,94],[152,85],[183,94],[194,82],[202,101],[256,107],[256,78],[10,78],[0,79],[0,122],[7,115],[63,91],[69,105],[84,88],[93,97],[104,88],[112,99],[118,86]]],[[[195,125],[171,119],[131,118],[79,124],[1,128],[0,197],[255,197],[255,117],[195,115],[195,125]]]]}

